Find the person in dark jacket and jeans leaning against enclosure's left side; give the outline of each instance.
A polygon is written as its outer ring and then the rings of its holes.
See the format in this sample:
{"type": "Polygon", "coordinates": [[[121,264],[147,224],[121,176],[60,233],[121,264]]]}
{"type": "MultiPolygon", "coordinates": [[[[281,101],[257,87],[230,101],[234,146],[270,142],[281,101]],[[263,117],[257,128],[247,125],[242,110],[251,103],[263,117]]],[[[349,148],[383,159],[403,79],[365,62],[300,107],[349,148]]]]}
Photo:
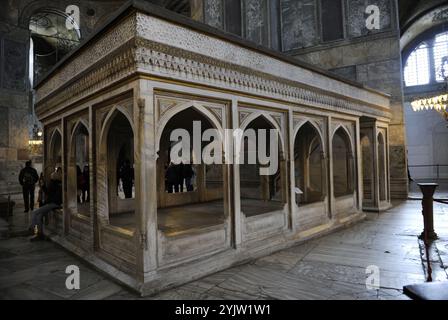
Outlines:
{"type": "Polygon", "coordinates": [[[43,218],[54,209],[58,209],[62,204],[62,169],[59,167],[51,174],[50,183],[48,184],[47,199],[45,205],[33,211],[30,230],[34,231],[34,237],[31,241],[43,240],[43,218]]]}

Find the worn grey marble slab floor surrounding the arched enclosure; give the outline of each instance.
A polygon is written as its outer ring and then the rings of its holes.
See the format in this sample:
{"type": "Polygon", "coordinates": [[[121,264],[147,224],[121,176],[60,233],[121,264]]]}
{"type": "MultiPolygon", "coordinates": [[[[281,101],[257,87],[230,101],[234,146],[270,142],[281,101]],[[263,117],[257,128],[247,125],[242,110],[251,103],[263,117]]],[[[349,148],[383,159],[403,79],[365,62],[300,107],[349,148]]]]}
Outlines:
{"type": "MultiPolygon", "coordinates": [[[[407,299],[406,284],[426,277],[419,201],[369,214],[349,229],[282,250],[146,299],[407,299]],[[366,267],[380,269],[380,289],[367,290],[366,267]]],[[[430,250],[435,280],[447,280],[448,205],[435,204],[430,250]]],[[[0,240],[0,299],[139,299],[134,292],[51,242],[0,240]],[[65,268],[81,270],[81,289],[65,287],[65,268]]]]}

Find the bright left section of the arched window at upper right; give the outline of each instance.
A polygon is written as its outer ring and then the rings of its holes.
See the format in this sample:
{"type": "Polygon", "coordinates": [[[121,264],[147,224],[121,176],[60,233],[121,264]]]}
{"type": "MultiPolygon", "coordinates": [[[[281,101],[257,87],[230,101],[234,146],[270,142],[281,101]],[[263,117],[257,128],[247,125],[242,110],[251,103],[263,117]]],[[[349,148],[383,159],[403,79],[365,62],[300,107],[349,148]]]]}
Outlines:
{"type": "Polygon", "coordinates": [[[420,44],[410,54],[404,67],[404,80],[406,86],[428,84],[431,78],[429,63],[429,48],[426,43],[420,44]]]}

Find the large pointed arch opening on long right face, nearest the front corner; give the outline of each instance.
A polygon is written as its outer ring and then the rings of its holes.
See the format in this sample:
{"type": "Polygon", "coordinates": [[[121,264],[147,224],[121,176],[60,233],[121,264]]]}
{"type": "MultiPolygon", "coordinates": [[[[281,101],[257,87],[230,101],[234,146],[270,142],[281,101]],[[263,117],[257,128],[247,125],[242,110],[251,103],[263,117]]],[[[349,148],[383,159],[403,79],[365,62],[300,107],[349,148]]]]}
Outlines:
{"type": "Polygon", "coordinates": [[[157,220],[165,234],[225,223],[226,169],[219,131],[196,107],[179,111],[164,126],[157,159],[157,220]],[[182,138],[171,136],[176,132],[182,138]],[[194,150],[196,143],[200,150],[194,150]],[[217,147],[211,152],[214,162],[202,157],[210,143],[217,147]]]}

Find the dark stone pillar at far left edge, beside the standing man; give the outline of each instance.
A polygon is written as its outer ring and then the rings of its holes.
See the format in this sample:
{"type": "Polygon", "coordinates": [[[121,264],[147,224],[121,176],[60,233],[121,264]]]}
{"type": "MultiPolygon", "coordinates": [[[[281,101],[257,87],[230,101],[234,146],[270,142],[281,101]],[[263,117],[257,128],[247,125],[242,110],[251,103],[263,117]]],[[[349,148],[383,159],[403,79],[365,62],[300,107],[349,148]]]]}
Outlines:
{"type": "Polygon", "coordinates": [[[17,17],[12,17],[15,2],[2,4],[6,9],[0,14],[0,21],[13,27],[0,27],[0,193],[11,194],[13,199],[23,203],[18,175],[25,161],[30,159],[27,72],[30,36],[29,30],[14,27],[17,22],[17,17]]]}

